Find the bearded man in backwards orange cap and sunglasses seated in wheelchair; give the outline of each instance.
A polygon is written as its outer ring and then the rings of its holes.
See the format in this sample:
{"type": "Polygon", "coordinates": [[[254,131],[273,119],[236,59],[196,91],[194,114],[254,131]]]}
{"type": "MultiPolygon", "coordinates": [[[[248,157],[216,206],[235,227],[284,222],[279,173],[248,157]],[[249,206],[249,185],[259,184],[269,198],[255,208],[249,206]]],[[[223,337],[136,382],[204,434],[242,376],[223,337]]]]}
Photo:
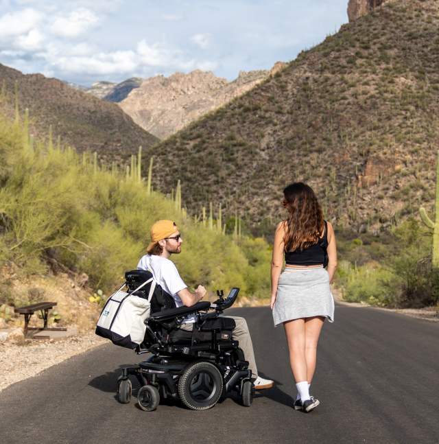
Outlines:
{"type": "MultiPolygon", "coordinates": [[[[182,237],[178,226],[171,220],[159,220],[151,227],[151,239],[152,242],[147,247],[147,255],[140,259],[137,268],[152,272],[155,281],[172,296],[176,307],[191,307],[201,301],[206,295],[206,289],[202,285],[198,285],[194,292],[190,292],[181,279],[174,262],[169,259],[172,254],[181,253],[182,237]]],[[[254,388],[257,390],[271,388],[273,381],[258,375],[252,339],[246,320],[239,316],[227,317],[235,320],[236,326],[232,331],[233,340],[237,340],[239,347],[244,351],[244,357],[248,361],[248,369],[252,371],[254,377],[254,388]]],[[[183,322],[178,325],[182,334],[184,331],[193,331],[195,320],[195,314],[189,314],[183,319],[183,322]]]]}

